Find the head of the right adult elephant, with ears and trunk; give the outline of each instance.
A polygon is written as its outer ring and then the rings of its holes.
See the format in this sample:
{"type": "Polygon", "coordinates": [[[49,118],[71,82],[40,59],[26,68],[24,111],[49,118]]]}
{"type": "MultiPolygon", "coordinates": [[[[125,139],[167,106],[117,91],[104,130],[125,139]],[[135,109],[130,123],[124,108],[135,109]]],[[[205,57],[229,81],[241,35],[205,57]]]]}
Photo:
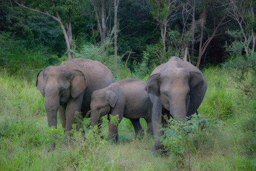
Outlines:
{"type": "MultiPolygon", "coordinates": [[[[186,68],[167,68],[147,80],[147,91],[160,97],[163,107],[174,119],[186,119],[191,96],[195,96],[204,84],[201,73],[189,72],[186,68]]],[[[191,106],[190,106],[191,108],[191,106]]],[[[194,113],[197,107],[191,111],[194,113]]]]}

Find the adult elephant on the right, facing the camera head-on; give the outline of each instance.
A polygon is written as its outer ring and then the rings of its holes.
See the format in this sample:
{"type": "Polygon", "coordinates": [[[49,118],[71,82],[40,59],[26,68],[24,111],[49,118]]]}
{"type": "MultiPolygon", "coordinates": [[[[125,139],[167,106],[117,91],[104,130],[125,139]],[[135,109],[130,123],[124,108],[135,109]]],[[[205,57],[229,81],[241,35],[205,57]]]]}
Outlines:
{"type": "Polygon", "coordinates": [[[156,67],[147,80],[147,91],[153,103],[152,125],[154,146],[152,151],[162,149],[160,131],[162,115],[185,121],[201,105],[207,82],[198,68],[180,58],[173,57],[156,67]]]}

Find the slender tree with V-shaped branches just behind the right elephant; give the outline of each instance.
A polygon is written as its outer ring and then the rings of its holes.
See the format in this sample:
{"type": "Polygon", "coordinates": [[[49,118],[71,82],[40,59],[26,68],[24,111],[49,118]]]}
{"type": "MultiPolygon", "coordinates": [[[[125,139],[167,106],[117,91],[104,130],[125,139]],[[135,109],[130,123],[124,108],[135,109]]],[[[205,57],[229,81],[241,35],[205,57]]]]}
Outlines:
{"type": "Polygon", "coordinates": [[[167,24],[175,19],[177,15],[177,0],[148,0],[151,9],[150,12],[157,25],[161,30],[161,38],[163,41],[163,52],[166,52],[166,31],[167,24]]]}

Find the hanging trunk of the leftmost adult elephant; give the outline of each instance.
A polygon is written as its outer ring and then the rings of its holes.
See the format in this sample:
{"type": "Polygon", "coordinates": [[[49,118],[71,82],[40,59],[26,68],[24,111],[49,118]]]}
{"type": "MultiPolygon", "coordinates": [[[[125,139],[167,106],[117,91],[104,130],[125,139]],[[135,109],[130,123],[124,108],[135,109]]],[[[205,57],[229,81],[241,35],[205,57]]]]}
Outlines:
{"type": "Polygon", "coordinates": [[[57,128],[57,111],[60,107],[60,100],[58,95],[56,95],[54,99],[53,97],[54,96],[52,94],[46,95],[45,108],[47,113],[48,126],[54,126],[57,128]]]}

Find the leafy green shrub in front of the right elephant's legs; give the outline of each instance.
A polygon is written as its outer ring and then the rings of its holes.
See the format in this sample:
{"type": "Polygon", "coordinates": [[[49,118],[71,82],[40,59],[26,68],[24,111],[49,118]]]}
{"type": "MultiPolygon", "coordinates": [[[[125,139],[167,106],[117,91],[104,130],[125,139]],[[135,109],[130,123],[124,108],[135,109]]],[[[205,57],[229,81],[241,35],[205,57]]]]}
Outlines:
{"type": "Polygon", "coordinates": [[[185,122],[164,118],[167,121],[167,125],[162,127],[161,131],[164,134],[160,138],[164,145],[164,150],[175,155],[176,162],[180,163],[182,161],[181,165],[186,165],[183,161],[188,157],[190,169],[191,153],[197,153],[204,141],[203,138],[198,141],[197,137],[202,137],[203,132],[207,130],[209,120],[198,119],[197,115],[192,115],[185,122]],[[195,143],[196,140],[197,143],[195,143]]]}

